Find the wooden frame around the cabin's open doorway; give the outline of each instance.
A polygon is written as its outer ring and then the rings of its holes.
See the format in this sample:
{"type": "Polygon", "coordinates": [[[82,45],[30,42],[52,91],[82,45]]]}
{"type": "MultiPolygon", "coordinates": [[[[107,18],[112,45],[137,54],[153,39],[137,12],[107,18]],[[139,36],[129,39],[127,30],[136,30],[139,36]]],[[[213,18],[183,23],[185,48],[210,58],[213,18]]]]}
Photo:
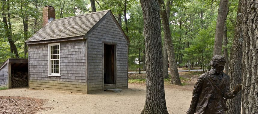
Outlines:
{"type": "Polygon", "coordinates": [[[114,46],[114,84],[116,85],[116,80],[117,80],[117,75],[116,75],[116,73],[117,73],[117,71],[116,71],[116,69],[117,69],[117,66],[116,66],[116,55],[117,55],[117,49],[116,49],[116,45],[117,45],[117,43],[115,43],[115,42],[107,42],[107,41],[102,41],[102,85],[103,85],[103,89],[104,89],[104,45],[113,45],[114,46]]]}

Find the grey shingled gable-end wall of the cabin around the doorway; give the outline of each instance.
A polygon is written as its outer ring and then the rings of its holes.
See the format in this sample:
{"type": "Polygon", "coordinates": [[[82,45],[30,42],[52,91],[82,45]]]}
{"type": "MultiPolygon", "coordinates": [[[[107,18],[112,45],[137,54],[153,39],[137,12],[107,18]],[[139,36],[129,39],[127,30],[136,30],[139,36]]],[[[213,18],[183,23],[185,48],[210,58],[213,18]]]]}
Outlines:
{"type": "Polygon", "coordinates": [[[116,43],[116,87],[128,87],[127,80],[127,41],[111,16],[108,16],[88,36],[88,85],[89,91],[102,90],[102,46],[105,42],[116,43]]]}

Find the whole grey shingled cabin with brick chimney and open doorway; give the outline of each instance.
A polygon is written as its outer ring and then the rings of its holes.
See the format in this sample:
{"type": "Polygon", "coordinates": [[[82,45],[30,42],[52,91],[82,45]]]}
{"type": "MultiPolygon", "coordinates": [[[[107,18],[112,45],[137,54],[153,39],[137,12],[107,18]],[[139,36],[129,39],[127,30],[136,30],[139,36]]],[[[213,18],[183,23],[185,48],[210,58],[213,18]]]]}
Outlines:
{"type": "Polygon", "coordinates": [[[111,10],[55,19],[26,41],[29,88],[90,93],[128,88],[129,40],[111,10]]]}

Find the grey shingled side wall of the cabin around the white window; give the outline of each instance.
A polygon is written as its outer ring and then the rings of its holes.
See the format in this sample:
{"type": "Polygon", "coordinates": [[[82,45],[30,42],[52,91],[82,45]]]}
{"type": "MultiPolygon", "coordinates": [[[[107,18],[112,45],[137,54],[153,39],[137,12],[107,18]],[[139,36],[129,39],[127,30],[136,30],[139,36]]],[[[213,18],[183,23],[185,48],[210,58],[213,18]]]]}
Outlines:
{"type": "Polygon", "coordinates": [[[85,41],[60,43],[60,77],[48,76],[48,44],[29,46],[29,88],[86,93],[85,41]]]}

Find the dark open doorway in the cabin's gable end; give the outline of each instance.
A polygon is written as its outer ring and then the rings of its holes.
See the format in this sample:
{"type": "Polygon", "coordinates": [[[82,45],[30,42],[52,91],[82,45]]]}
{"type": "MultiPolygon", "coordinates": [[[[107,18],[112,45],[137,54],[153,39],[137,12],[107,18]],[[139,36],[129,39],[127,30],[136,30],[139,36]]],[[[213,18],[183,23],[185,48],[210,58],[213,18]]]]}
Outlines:
{"type": "Polygon", "coordinates": [[[104,84],[115,84],[115,46],[104,44],[104,84]]]}

